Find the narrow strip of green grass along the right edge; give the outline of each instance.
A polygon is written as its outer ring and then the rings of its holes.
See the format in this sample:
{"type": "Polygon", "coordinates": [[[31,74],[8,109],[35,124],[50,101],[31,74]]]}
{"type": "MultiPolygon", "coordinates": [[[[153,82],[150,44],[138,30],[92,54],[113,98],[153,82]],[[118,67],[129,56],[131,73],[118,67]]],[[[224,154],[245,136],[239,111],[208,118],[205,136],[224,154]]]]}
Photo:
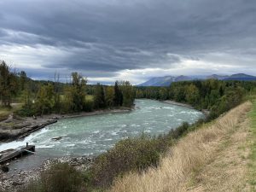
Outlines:
{"type": "Polygon", "coordinates": [[[251,119],[251,136],[249,139],[249,146],[251,154],[249,156],[250,162],[248,164],[249,178],[248,181],[251,185],[251,191],[256,191],[256,100],[253,100],[253,110],[250,113],[251,119]]]}

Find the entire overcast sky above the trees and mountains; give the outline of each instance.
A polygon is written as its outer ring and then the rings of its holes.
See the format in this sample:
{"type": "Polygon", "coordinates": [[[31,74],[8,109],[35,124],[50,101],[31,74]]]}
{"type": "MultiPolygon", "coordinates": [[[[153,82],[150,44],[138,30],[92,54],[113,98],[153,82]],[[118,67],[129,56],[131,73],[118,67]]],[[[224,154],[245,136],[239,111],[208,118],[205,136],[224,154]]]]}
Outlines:
{"type": "Polygon", "coordinates": [[[32,79],[256,75],[255,0],[0,0],[0,61],[32,79]]]}

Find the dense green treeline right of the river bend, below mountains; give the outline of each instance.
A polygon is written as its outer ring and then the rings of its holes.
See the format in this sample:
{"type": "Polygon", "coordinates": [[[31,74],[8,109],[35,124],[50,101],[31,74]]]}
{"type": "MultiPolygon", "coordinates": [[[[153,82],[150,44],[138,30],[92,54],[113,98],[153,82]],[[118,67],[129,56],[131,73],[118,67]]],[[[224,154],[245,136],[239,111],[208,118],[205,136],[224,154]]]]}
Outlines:
{"type": "Polygon", "coordinates": [[[254,90],[255,81],[207,79],[175,82],[170,87],[137,87],[136,97],[188,103],[197,109],[209,110],[208,119],[214,119],[236,107],[241,103],[243,96],[254,90]]]}

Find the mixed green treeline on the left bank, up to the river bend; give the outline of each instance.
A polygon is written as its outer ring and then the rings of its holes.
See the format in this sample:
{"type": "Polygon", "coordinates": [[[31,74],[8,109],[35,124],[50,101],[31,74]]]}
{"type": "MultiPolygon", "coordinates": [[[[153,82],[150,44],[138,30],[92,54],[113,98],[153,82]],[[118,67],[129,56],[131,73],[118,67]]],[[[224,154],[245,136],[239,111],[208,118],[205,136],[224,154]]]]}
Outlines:
{"type": "Polygon", "coordinates": [[[82,74],[71,73],[71,81],[63,84],[55,73],[54,81],[32,80],[26,72],[16,73],[0,63],[0,99],[2,107],[11,102],[23,102],[17,113],[24,116],[47,113],[79,113],[105,108],[131,108],[135,99],[134,87],[128,81],[112,86],[87,84],[82,74]]]}

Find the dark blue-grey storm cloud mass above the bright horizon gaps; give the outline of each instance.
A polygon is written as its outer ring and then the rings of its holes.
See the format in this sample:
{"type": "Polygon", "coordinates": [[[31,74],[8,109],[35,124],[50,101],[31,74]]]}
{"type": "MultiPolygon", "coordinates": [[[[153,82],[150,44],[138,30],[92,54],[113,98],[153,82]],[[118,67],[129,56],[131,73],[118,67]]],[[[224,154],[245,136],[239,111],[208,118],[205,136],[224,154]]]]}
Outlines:
{"type": "Polygon", "coordinates": [[[2,0],[0,6],[2,45],[63,51],[41,63],[47,68],[100,77],[102,71],[170,68],[181,61],[178,55],[196,61],[218,51],[252,59],[256,53],[255,0],[2,0]]]}

